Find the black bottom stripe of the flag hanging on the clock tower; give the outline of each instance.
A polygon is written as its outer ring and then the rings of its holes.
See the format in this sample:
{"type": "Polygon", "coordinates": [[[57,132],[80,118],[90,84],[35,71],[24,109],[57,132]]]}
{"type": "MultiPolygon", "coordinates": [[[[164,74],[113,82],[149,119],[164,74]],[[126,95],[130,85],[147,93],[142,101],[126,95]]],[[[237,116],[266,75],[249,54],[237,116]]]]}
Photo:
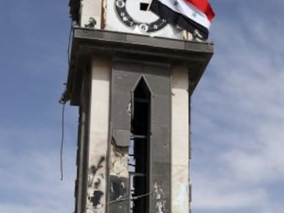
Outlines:
{"type": "Polygon", "coordinates": [[[150,5],[150,10],[154,12],[160,18],[165,19],[171,25],[178,25],[182,29],[187,30],[193,34],[195,29],[198,29],[198,32],[202,35],[203,39],[206,40],[209,35],[209,30],[206,27],[196,23],[191,18],[184,16],[174,10],[171,10],[166,5],[161,3],[158,0],[153,0],[150,5]]]}

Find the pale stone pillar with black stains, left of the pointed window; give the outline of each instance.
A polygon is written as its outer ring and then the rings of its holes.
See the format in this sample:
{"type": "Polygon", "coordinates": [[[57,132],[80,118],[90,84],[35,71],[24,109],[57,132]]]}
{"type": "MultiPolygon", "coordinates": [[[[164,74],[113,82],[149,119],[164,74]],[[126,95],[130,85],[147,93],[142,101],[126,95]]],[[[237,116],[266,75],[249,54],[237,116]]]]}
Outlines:
{"type": "Polygon", "coordinates": [[[106,211],[110,64],[110,60],[96,57],[91,65],[86,213],[104,213],[106,211]]]}

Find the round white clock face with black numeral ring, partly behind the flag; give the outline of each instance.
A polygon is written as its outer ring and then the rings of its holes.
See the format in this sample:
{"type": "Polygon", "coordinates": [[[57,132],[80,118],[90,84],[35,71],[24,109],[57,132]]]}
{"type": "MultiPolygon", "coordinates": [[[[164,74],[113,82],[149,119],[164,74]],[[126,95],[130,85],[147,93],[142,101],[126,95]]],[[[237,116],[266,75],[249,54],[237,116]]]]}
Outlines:
{"type": "Polygon", "coordinates": [[[141,32],[157,32],[167,26],[167,22],[151,11],[147,11],[149,0],[115,0],[115,11],[126,26],[138,27],[141,32]]]}

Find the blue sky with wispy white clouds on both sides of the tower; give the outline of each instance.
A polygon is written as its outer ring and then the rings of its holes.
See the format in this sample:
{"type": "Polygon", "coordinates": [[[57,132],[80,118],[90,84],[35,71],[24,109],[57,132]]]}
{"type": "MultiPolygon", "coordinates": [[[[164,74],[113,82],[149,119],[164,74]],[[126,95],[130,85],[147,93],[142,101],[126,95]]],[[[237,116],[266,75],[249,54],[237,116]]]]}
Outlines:
{"type": "MultiPolygon", "coordinates": [[[[195,213],[283,213],[284,1],[211,1],[213,56],[192,97],[195,213]]],[[[0,0],[0,212],[73,212],[78,108],[64,1],[0,0]]]]}

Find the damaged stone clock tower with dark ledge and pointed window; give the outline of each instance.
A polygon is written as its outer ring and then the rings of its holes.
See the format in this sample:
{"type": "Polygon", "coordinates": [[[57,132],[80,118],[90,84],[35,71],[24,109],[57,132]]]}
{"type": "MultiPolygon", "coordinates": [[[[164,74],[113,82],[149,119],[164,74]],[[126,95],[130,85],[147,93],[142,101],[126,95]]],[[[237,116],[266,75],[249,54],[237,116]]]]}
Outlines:
{"type": "Polygon", "coordinates": [[[213,45],[185,40],[148,3],[70,0],[75,213],[190,212],[190,99],[213,45]]]}

